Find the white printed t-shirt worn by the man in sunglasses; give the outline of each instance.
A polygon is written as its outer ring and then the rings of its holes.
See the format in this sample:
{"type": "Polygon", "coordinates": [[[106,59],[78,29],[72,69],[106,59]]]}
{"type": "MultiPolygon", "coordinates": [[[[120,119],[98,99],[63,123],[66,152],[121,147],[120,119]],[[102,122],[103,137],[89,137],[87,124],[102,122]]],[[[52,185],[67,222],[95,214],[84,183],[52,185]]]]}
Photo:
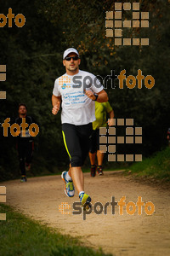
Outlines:
{"type": "Polygon", "coordinates": [[[84,89],[99,93],[103,85],[92,73],[82,70],[76,75],[67,73],[54,82],[54,96],[61,96],[61,123],[87,125],[95,120],[95,102],[85,95],[84,89]]]}

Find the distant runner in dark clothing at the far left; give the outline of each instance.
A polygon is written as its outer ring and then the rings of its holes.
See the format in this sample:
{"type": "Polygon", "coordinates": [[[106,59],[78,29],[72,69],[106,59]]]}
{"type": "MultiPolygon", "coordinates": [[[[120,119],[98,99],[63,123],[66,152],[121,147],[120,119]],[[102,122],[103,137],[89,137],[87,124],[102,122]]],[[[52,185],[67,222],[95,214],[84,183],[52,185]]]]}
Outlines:
{"type": "MultiPolygon", "coordinates": [[[[28,127],[34,123],[31,116],[26,115],[27,107],[26,104],[19,105],[19,117],[15,119],[15,123],[20,125],[22,123],[22,118],[26,118],[26,123],[28,127]]],[[[21,182],[26,182],[26,171],[30,170],[31,168],[31,159],[33,154],[33,137],[31,137],[28,127],[26,128],[26,135],[23,135],[23,131],[20,131],[19,136],[17,137],[17,150],[20,160],[20,172],[21,172],[21,182]],[[25,162],[26,161],[26,162],[25,162]]]]}

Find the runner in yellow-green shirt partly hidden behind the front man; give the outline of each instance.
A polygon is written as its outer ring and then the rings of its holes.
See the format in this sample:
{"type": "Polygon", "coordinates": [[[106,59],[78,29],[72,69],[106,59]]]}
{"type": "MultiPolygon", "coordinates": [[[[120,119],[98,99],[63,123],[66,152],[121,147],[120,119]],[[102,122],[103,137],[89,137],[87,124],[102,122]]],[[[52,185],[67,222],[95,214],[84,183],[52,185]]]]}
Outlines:
{"type": "Polygon", "coordinates": [[[91,176],[95,177],[96,168],[99,175],[103,175],[102,163],[104,159],[103,152],[99,151],[99,127],[106,127],[107,123],[109,126],[113,125],[114,112],[109,102],[95,102],[95,117],[96,120],[93,122],[93,133],[90,136],[90,150],[89,159],[91,163],[91,176]],[[109,113],[110,119],[106,121],[106,115],[109,113]],[[95,165],[95,156],[97,155],[98,166],[95,165]]]}

